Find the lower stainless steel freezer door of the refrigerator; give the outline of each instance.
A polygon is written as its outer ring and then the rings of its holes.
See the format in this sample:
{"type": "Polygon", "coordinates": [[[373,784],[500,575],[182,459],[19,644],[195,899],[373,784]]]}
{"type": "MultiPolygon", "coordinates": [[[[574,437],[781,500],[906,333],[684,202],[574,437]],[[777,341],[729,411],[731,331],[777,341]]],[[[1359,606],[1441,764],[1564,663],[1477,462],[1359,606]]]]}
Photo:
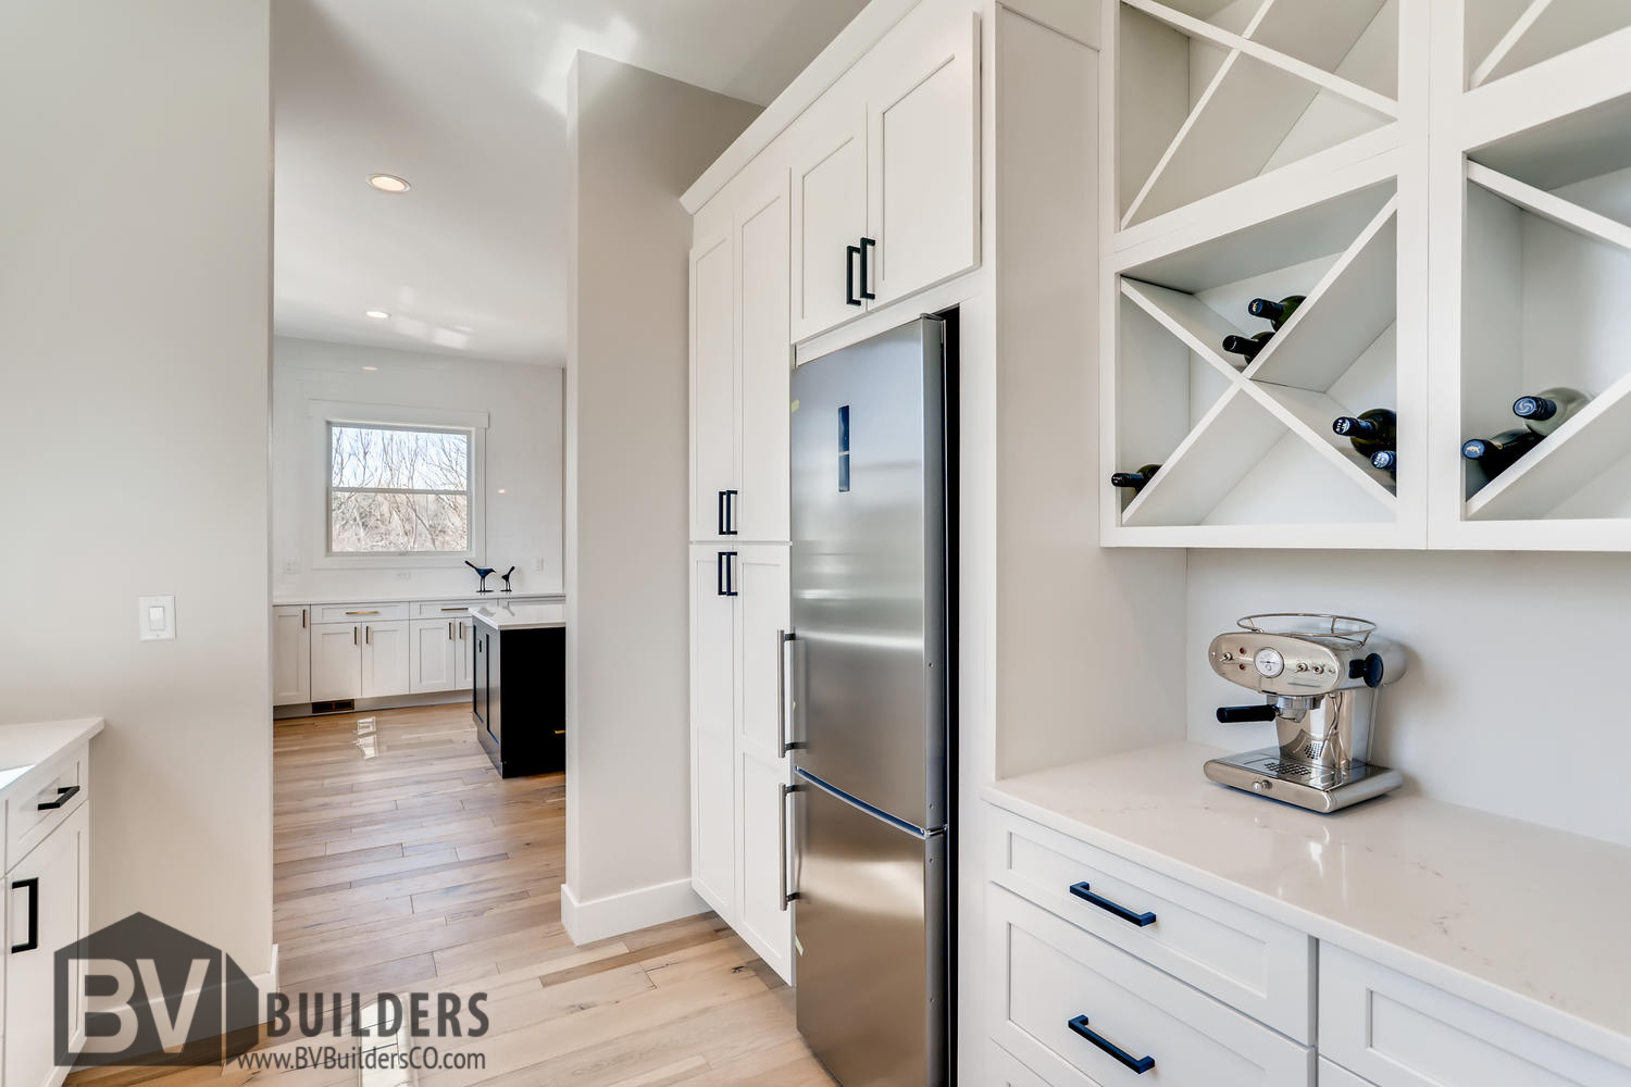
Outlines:
{"type": "Polygon", "coordinates": [[[939,1087],[946,834],[798,784],[799,1033],[843,1087],[939,1087]]]}

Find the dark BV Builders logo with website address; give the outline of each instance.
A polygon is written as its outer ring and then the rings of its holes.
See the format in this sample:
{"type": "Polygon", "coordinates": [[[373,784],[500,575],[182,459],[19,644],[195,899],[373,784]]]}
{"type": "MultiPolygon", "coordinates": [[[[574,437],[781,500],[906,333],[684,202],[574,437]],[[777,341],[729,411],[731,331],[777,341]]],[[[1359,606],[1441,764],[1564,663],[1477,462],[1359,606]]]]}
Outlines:
{"type": "Polygon", "coordinates": [[[62,1067],[484,1067],[426,1038],[480,1038],[484,992],[263,996],[217,947],[134,913],[55,953],[62,1067]],[[431,1014],[431,1004],[435,1014],[431,1014]],[[267,1048],[251,1053],[264,1036],[267,1048]],[[316,1038],[326,1038],[316,1045],[316,1038]],[[336,1040],[347,1038],[347,1045],[336,1040]],[[281,1041],[285,1040],[285,1041],[281,1041]],[[367,1040],[367,1041],[364,1041],[367,1040]]]}

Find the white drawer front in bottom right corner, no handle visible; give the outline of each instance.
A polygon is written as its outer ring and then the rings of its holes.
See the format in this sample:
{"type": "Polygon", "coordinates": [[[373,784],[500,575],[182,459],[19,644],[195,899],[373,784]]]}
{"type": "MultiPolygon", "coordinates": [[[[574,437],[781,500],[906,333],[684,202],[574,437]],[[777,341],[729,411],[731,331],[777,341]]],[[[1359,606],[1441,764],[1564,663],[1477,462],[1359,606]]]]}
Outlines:
{"type": "Polygon", "coordinates": [[[1319,1051],[1377,1087],[1631,1085],[1631,1071],[1329,944],[1319,1051]]]}

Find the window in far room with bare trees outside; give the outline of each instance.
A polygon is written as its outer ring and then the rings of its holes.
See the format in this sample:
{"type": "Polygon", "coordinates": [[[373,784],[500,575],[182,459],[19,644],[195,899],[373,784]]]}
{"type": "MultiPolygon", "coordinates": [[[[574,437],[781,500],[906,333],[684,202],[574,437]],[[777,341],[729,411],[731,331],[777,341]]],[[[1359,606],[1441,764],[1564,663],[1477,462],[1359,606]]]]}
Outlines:
{"type": "Polygon", "coordinates": [[[468,554],[471,432],[328,424],[329,554],[468,554]]]}

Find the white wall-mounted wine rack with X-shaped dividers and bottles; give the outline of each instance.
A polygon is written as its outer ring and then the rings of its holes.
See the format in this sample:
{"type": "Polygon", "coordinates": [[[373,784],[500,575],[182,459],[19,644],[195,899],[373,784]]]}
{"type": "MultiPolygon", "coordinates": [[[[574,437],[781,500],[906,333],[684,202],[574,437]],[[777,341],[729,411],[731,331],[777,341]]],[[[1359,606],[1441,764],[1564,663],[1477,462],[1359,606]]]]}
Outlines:
{"type": "Polygon", "coordinates": [[[1104,544],[1631,551],[1631,2],[1112,0],[1106,29],[1104,544]],[[1461,456],[1549,388],[1592,399],[1505,471],[1461,456]],[[1396,477],[1331,429],[1372,407],[1396,477]]]}

